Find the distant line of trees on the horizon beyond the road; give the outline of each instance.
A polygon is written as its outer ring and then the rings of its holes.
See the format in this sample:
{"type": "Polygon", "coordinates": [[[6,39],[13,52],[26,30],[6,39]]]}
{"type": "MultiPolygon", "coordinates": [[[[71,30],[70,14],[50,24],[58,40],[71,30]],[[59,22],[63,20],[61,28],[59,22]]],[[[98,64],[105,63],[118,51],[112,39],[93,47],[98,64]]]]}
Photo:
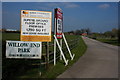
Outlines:
{"type": "Polygon", "coordinates": [[[103,33],[92,32],[89,28],[77,29],[75,31],[69,31],[68,33],[74,34],[74,35],[82,35],[83,33],[86,33],[87,36],[91,38],[117,38],[118,39],[120,37],[119,28],[113,28],[111,31],[106,31],[103,33]]]}

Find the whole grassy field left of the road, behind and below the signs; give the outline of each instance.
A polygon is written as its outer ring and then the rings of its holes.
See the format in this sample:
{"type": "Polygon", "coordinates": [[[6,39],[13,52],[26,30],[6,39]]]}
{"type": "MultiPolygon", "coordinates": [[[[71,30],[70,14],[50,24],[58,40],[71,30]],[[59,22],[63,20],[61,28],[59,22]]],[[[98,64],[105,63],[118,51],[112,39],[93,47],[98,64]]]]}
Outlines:
{"type": "MultiPolygon", "coordinates": [[[[6,51],[6,40],[20,40],[19,33],[3,33],[2,34],[2,77],[6,78],[56,78],[58,75],[63,73],[66,69],[68,69],[71,65],[73,65],[86,51],[87,46],[80,36],[77,35],[65,35],[72,50],[72,53],[75,54],[75,59],[73,61],[70,60],[70,56],[67,51],[64,50],[65,56],[69,59],[69,65],[64,66],[63,60],[57,59],[56,66],[53,65],[53,62],[48,65],[42,65],[40,63],[44,62],[44,58],[42,60],[34,60],[34,59],[6,59],[5,51],[6,51]],[[73,40],[73,42],[71,42],[73,40]],[[77,41],[75,41],[77,40],[77,41]],[[76,44],[73,44],[76,43],[76,44]],[[73,45],[71,45],[73,44],[73,45]],[[41,72],[41,76],[40,76],[41,72]]],[[[43,43],[46,44],[46,43],[43,43]]],[[[53,44],[52,42],[49,44],[53,44]]],[[[64,47],[63,42],[63,47],[64,47]]],[[[49,47],[50,52],[53,51],[53,46],[49,47]]],[[[45,48],[43,48],[43,54],[45,54],[45,48]]],[[[57,53],[58,55],[60,53],[57,53]]],[[[51,56],[50,58],[53,58],[51,56]]]]}

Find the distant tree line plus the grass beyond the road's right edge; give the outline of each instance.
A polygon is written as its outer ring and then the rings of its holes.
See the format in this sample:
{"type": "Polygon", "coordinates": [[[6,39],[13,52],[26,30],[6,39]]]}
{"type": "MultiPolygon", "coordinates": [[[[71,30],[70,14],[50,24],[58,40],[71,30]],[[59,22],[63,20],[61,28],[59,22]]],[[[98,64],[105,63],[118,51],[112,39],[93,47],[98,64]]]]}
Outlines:
{"type": "Polygon", "coordinates": [[[106,31],[104,33],[92,32],[89,28],[78,29],[75,31],[68,32],[69,34],[82,35],[83,33],[87,34],[87,37],[99,40],[104,43],[120,46],[120,29],[113,28],[111,31],[106,31]]]}

